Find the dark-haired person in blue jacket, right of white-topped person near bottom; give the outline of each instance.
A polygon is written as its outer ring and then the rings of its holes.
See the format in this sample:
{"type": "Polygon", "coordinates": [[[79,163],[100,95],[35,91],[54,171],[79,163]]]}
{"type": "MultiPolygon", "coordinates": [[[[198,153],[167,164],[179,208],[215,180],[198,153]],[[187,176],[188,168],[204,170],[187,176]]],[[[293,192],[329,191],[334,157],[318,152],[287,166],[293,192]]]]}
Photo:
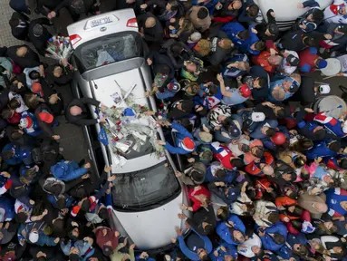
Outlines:
{"type": "Polygon", "coordinates": [[[270,251],[277,251],[283,247],[288,234],[282,222],[277,222],[271,227],[256,227],[255,230],[262,240],[262,246],[270,251]]]}

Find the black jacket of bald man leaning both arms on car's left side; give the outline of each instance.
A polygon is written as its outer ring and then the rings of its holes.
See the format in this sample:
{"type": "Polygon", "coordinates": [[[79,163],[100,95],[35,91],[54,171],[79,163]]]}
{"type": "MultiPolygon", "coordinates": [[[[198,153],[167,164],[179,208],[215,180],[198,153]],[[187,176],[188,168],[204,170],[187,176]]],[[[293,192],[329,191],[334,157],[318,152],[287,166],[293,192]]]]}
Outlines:
{"type": "Polygon", "coordinates": [[[66,110],[65,110],[65,117],[66,120],[69,121],[70,123],[76,124],[76,125],[93,125],[98,123],[97,119],[92,119],[89,118],[88,115],[88,104],[94,105],[96,107],[98,107],[100,105],[100,102],[92,99],[92,98],[81,98],[81,99],[74,99],[72,100],[72,102],[69,103],[69,105],[67,105],[66,110]],[[78,106],[82,109],[82,113],[80,115],[77,116],[73,116],[70,113],[70,109],[73,106],[78,106]]]}

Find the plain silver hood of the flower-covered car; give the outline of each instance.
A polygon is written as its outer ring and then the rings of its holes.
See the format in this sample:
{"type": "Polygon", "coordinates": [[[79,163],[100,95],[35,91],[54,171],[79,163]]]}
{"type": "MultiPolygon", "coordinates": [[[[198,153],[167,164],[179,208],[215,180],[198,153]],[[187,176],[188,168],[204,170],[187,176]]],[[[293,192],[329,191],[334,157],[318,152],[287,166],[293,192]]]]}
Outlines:
{"type": "Polygon", "coordinates": [[[183,223],[178,218],[181,213],[183,191],[169,203],[142,212],[120,212],[113,209],[121,226],[128,233],[136,247],[141,250],[165,247],[171,244],[171,238],[177,237],[175,227],[183,223]]]}

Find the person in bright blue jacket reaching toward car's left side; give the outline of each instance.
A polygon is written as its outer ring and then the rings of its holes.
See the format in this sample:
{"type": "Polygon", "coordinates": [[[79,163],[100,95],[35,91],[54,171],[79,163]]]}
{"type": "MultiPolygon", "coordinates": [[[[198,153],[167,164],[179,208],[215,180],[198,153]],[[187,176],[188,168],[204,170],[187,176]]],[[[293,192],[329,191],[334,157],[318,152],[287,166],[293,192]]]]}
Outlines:
{"type": "Polygon", "coordinates": [[[61,160],[51,167],[51,172],[56,179],[70,181],[80,178],[87,173],[90,168],[91,163],[86,163],[83,167],[80,167],[74,160],[61,160]]]}

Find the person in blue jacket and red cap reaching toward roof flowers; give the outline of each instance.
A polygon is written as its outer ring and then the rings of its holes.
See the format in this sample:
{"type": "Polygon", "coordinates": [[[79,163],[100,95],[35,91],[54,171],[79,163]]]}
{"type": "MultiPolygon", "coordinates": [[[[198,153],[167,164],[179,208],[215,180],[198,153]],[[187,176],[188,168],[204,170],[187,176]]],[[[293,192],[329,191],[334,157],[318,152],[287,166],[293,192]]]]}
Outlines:
{"type": "Polygon", "coordinates": [[[166,150],[171,154],[188,154],[197,149],[197,141],[194,140],[193,135],[187,131],[182,125],[177,122],[173,122],[172,124],[167,122],[172,130],[176,132],[175,143],[177,147],[169,144],[168,141],[158,140],[158,144],[162,145],[166,150]]]}

